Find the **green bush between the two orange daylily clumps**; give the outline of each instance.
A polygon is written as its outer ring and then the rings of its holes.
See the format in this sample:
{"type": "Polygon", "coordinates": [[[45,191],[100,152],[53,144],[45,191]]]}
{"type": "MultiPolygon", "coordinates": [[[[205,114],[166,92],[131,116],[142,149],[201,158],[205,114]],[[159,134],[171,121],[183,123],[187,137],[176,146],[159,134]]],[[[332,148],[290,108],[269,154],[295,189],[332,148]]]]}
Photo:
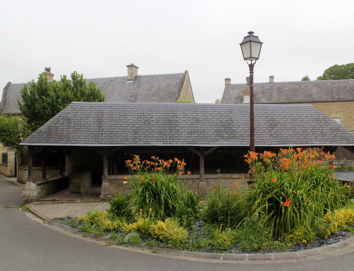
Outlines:
{"type": "Polygon", "coordinates": [[[218,183],[211,188],[203,203],[201,218],[206,223],[236,226],[240,218],[239,200],[236,191],[231,192],[218,183]]]}

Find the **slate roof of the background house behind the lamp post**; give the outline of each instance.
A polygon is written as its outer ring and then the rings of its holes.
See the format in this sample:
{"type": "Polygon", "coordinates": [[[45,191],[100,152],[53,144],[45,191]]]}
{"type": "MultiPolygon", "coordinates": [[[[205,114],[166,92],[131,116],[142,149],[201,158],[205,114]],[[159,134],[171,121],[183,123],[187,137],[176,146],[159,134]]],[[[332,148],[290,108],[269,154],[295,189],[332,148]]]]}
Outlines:
{"type": "MultiPolygon", "coordinates": [[[[354,101],[354,79],[256,83],[254,86],[257,104],[354,101]]],[[[221,103],[241,104],[241,91],[248,88],[246,84],[225,86],[221,103]]]]}

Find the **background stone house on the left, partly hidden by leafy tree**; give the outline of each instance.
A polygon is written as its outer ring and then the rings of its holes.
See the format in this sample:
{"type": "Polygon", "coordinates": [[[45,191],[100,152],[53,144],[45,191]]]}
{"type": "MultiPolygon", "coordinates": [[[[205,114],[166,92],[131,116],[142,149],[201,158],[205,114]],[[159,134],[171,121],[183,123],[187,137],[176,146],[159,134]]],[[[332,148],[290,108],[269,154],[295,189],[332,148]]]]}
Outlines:
{"type": "MultiPolygon", "coordinates": [[[[142,103],[194,103],[193,90],[189,73],[161,74],[161,75],[138,75],[136,65],[127,65],[127,76],[106,77],[87,79],[87,83],[95,82],[102,90],[107,102],[142,102],[142,103]]],[[[47,75],[49,81],[54,79],[50,67],[45,69],[43,74],[47,75]]],[[[2,92],[0,114],[21,116],[17,106],[17,100],[21,100],[21,89],[25,83],[13,84],[8,82],[2,92]]],[[[7,150],[0,144],[1,164],[0,174],[8,177],[16,176],[15,151],[7,150]]],[[[22,157],[22,161],[26,161],[22,157]]],[[[40,158],[38,158],[40,160],[40,158]]],[[[37,162],[36,162],[37,163],[37,162]]],[[[40,164],[40,161],[37,163],[40,164]]],[[[56,161],[52,161],[56,166],[56,161]]],[[[18,165],[22,166],[22,165],[18,165]]],[[[23,178],[18,178],[23,181],[23,178]]]]}

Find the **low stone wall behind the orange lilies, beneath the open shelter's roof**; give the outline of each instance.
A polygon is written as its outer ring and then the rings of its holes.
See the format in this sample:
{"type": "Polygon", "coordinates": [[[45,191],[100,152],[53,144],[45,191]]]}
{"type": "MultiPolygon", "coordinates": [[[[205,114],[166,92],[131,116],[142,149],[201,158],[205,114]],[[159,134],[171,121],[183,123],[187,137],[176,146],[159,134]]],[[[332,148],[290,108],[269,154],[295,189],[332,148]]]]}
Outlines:
{"type": "MultiPolygon", "coordinates": [[[[132,188],[129,185],[125,185],[124,187],[123,181],[125,176],[126,175],[108,175],[108,181],[110,183],[112,196],[114,196],[117,192],[120,194],[123,194],[123,192],[131,192],[132,188]]],[[[207,187],[212,188],[217,185],[219,181],[218,177],[219,176],[217,174],[206,174],[205,181],[207,183],[207,187]]],[[[247,174],[243,173],[220,175],[221,184],[223,185],[223,187],[229,189],[235,189],[237,187],[238,189],[244,190],[248,186],[247,181],[249,180],[250,179],[247,179],[247,174]],[[238,182],[237,186],[235,185],[236,181],[238,182]]],[[[190,188],[191,191],[197,192],[199,184],[199,175],[182,175],[178,178],[178,181],[190,188]]]]}

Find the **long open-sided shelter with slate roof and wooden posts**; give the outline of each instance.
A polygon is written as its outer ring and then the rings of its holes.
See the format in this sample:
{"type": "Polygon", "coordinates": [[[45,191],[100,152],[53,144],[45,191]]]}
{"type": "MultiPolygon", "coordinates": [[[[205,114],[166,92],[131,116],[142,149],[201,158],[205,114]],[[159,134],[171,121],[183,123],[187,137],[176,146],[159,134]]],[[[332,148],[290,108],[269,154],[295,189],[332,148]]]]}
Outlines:
{"type": "MultiPolygon", "coordinates": [[[[255,117],[256,151],[290,146],[354,151],[354,134],[312,105],[258,104],[255,117]]],[[[236,180],[247,185],[243,155],[249,149],[249,105],[73,102],[21,145],[29,148],[25,201],[53,192],[50,183],[69,185],[76,193],[96,184],[101,198],[110,197],[123,189],[129,174],[125,160],[133,154],[142,160],[151,155],[184,159],[192,175],[180,181],[205,193],[218,180],[226,187],[236,180]],[[56,177],[47,180],[45,155],[41,168],[33,167],[33,157],[53,150],[63,162],[56,177]]]]}

